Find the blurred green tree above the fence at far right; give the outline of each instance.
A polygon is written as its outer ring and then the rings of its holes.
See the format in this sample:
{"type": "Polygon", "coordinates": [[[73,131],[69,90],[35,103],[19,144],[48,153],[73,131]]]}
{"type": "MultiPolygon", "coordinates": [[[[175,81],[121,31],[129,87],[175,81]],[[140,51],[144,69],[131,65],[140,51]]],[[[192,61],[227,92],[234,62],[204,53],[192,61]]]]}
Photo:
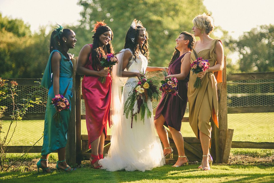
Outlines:
{"type": "Polygon", "coordinates": [[[245,32],[239,41],[231,40],[231,50],[240,53],[242,72],[274,71],[274,25],[261,25],[245,32]]]}

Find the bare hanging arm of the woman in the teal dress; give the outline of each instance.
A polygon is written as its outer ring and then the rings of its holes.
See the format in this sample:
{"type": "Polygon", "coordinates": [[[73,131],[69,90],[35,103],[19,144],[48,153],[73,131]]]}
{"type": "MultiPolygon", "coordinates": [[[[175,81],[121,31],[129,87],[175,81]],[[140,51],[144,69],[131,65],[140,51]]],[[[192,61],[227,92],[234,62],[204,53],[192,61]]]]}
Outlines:
{"type": "Polygon", "coordinates": [[[59,76],[60,76],[60,62],[61,62],[61,54],[59,52],[54,52],[51,57],[51,70],[53,73],[53,92],[54,95],[58,95],[60,84],[59,84],[59,76]]]}

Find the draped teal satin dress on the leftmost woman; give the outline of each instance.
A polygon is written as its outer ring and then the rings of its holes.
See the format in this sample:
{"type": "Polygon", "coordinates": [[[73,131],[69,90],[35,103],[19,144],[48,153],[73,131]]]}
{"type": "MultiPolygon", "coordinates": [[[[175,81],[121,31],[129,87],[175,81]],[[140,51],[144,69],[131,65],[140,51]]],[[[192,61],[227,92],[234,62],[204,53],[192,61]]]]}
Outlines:
{"type": "Polygon", "coordinates": [[[68,132],[68,122],[71,113],[71,109],[63,110],[60,112],[62,122],[56,122],[53,119],[53,115],[56,112],[55,107],[51,103],[51,99],[55,97],[53,92],[53,74],[51,69],[51,57],[54,52],[59,52],[61,54],[60,62],[60,78],[59,78],[59,94],[64,94],[65,89],[68,86],[65,98],[72,98],[72,74],[73,65],[72,62],[67,60],[67,58],[58,50],[53,50],[49,56],[49,60],[42,78],[41,85],[49,89],[47,107],[45,113],[45,125],[44,125],[44,140],[42,146],[41,155],[47,155],[57,149],[63,148],[67,144],[67,132],[68,132]]]}

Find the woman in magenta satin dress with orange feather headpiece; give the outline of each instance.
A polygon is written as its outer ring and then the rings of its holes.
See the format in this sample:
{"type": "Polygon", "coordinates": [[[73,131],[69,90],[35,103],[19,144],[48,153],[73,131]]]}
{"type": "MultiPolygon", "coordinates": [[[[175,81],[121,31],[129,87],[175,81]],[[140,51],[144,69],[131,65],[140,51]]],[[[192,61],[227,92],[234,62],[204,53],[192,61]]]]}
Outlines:
{"type": "Polygon", "coordinates": [[[88,146],[91,148],[89,160],[96,169],[103,158],[107,121],[110,125],[111,76],[108,69],[100,66],[100,60],[108,53],[114,53],[111,40],[113,32],[104,21],[97,22],[93,29],[93,43],[85,45],[78,57],[76,72],[84,75],[82,94],[86,106],[86,128],[88,146]],[[106,77],[106,82],[98,81],[106,77]]]}

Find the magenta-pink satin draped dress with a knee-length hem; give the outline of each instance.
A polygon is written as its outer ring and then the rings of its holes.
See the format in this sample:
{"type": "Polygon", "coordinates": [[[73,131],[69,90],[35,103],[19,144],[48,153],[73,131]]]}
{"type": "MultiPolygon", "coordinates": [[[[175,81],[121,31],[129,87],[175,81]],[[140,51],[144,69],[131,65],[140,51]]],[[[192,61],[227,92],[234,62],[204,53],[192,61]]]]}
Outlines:
{"type": "MultiPolygon", "coordinates": [[[[92,44],[89,44],[92,48],[92,44]]],[[[84,66],[92,68],[91,53],[84,66]]],[[[98,67],[98,69],[102,69],[98,67]]],[[[106,82],[98,81],[98,76],[84,76],[82,80],[82,94],[86,106],[86,128],[88,131],[88,146],[96,140],[102,132],[106,136],[107,121],[110,121],[111,76],[108,74],[106,82]]]]}

